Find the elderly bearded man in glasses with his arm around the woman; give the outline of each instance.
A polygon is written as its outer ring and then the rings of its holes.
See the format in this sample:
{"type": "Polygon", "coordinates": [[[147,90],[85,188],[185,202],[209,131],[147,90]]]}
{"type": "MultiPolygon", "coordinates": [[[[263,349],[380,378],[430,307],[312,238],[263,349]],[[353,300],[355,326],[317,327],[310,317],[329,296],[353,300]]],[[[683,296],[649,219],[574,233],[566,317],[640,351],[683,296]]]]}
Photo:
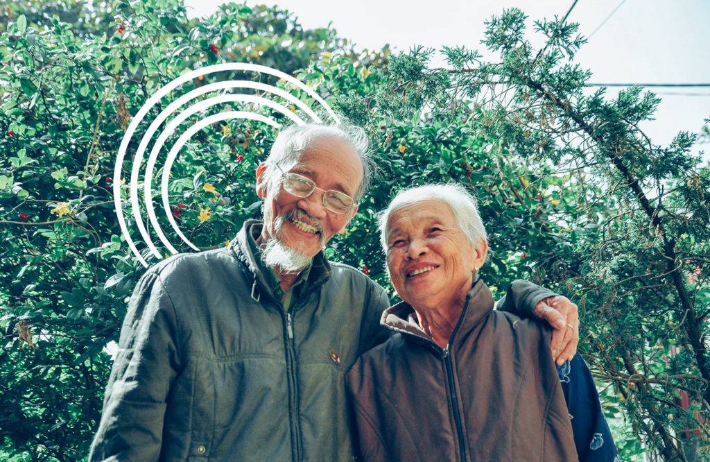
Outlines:
{"type": "MultiPolygon", "coordinates": [[[[354,127],[281,131],[256,171],[263,222],[138,281],[91,460],[351,459],[344,374],[388,337],[378,321],[389,302],[361,272],[327,262],[322,247],[356,213],[366,148],[354,127]]],[[[545,308],[562,325],[556,357],[574,354],[576,306],[520,288],[506,306],[545,308]]]]}

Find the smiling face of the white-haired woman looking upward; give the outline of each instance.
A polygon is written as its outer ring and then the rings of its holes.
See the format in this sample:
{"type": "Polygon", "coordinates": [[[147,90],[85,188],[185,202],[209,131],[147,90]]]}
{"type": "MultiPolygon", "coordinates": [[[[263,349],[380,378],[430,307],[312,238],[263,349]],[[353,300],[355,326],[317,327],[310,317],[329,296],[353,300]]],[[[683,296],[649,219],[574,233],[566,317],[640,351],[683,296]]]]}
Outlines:
{"type": "Polygon", "coordinates": [[[386,232],[387,267],[404,301],[418,310],[462,305],[488,248],[483,240],[470,244],[447,203],[404,205],[391,213],[386,232]]]}

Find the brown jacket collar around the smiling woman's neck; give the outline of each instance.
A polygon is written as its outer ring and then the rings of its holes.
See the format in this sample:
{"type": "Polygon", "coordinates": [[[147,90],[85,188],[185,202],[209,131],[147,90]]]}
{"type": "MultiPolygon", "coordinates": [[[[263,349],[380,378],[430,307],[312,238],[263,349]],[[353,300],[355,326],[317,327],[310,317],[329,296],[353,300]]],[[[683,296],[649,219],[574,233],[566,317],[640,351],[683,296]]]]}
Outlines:
{"type": "MultiPolygon", "coordinates": [[[[488,289],[484,281],[478,279],[474,282],[469,293],[466,294],[461,317],[452,332],[452,338],[449,339],[449,348],[458,346],[457,339],[466,338],[468,335],[464,334],[474,331],[491,311],[493,311],[491,290],[488,289]]],[[[430,343],[434,342],[419,325],[414,308],[404,301],[383,311],[380,324],[391,331],[403,333],[410,338],[426,340],[430,343]]]]}

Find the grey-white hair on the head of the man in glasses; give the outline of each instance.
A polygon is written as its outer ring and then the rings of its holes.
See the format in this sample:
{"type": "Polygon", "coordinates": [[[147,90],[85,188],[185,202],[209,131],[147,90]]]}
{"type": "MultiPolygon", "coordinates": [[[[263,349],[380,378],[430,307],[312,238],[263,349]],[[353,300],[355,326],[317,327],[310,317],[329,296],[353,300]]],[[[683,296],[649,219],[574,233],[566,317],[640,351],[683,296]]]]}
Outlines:
{"type": "Polygon", "coordinates": [[[291,125],[281,130],[273,141],[271,151],[266,158],[266,171],[262,187],[278,186],[278,181],[281,179],[281,172],[278,168],[268,168],[269,166],[276,164],[283,171],[289,171],[298,163],[303,151],[312,146],[314,141],[328,137],[346,141],[355,149],[362,162],[363,178],[353,198],[358,203],[370,186],[374,163],[367,151],[370,141],[365,130],[351,124],[291,125]]]}

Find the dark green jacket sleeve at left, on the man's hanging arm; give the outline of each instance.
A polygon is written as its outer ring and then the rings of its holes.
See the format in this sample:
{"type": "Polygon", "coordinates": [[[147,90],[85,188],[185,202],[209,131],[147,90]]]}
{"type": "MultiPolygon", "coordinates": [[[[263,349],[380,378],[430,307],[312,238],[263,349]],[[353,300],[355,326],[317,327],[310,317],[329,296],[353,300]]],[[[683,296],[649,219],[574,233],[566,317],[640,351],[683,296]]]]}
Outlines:
{"type": "Polygon", "coordinates": [[[160,276],[141,277],[129,301],[89,461],[158,460],[165,401],[178,374],[175,307],[160,276]]]}

